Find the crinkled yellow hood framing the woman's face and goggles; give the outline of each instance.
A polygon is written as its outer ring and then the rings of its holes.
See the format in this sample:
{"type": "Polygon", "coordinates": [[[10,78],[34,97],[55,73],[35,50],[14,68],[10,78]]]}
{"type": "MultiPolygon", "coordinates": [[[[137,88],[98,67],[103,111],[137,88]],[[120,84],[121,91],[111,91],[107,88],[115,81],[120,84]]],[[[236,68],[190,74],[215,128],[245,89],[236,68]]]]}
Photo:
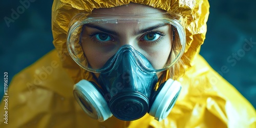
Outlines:
{"type": "Polygon", "coordinates": [[[87,0],[87,1],[71,1],[60,0],[54,1],[52,7],[52,31],[53,44],[61,56],[62,66],[71,75],[74,82],[81,79],[92,79],[89,72],[80,68],[75,61],[72,60],[67,50],[67,32],[72,17],[80,12],[92,12],[97,8],[111,8],[129,3],[137,3],[154,8],[166,10],[167,12],[180,14],[184,19],[184,27],[186,32],[186,49],[181,58],[185,64],[185,68],[193,66],[194,57],[199,54],[200,46],[203,44],[206,34],[206,22],[209,14],[209,3],[203,0],[189,1],[166,1],[166,0],[87,0]]]}

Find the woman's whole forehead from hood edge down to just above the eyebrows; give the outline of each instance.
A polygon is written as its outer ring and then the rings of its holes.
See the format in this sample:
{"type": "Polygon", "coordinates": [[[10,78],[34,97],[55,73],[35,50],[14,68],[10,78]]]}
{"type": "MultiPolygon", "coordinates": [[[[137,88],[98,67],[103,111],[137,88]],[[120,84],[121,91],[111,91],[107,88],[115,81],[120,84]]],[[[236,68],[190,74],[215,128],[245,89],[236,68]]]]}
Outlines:
{"type": "MultiPolygon", "coordinates": [[[[114,7],[114,8],[100,8],[94,9],[89,17],[105,17],[110,19],[108,24],[106,23],[96,23],[100,28],[106,28],[111,30],[129,30],[130,29],[143,29],[146,27],[156,26],[159,21],[153,22],[152,17],[166,17],[166,12],[161,9],[153,8],[146,5],[140,5],[135,3],[130,3],[129,5],[114,7]],[[113,14],[113,15],[112,15],[113,14]],[[118,15],[115,15],[118,14],[118,15]],[[113,16],[113,17],[112,17],[113,16]],[[130,17],[132,16],[132,18],[130,17]],[[127,20],[124,17],[130,17],[127,20]],[[123,19],[124,18],[124,19],[123,19]],[[113,21],[111,21],[113,19],[113,21]],[[112,23],[112,24],[111,24],[112,23]],[[118,23],[118,24],[113,24],[118,23]],[[141,24],[139,24],[141,23],[141,24]],[[142,24],[143,23],[143,24],[142,24]]],[[[106,20],[104,19],[104,20],[106,20]]]]}

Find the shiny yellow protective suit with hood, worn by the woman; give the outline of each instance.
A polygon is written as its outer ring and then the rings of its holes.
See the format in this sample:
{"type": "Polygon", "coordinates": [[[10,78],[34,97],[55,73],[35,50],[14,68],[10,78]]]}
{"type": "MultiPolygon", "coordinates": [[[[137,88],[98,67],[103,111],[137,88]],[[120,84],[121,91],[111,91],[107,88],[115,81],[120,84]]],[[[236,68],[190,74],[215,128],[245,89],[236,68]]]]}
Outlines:
{"type": "MultiPolygon", "coordinates": [[[[199,55],[206,33],[209,4],[204,0],[57,0],[52,7],[55,50],[18,73],[4,99],[0,127],[256,127],[253,106],[199,55]],[[135,121],[115,117],[104,122],[88,117],[73,97],[73,85],[94,80],[69,56],[66,37],[70,19],[79,12],[110,8],[130,2],[179,13],[185,19],[186,49],[181,59],[185,74],[178,80],[182,92],[169,116],[158,122],[146,114],[135,121]],[[5,118],[5,116],[4,116],[5,118]]],[[[95,80],[94,80],[95,81],[95,80]]]]}

